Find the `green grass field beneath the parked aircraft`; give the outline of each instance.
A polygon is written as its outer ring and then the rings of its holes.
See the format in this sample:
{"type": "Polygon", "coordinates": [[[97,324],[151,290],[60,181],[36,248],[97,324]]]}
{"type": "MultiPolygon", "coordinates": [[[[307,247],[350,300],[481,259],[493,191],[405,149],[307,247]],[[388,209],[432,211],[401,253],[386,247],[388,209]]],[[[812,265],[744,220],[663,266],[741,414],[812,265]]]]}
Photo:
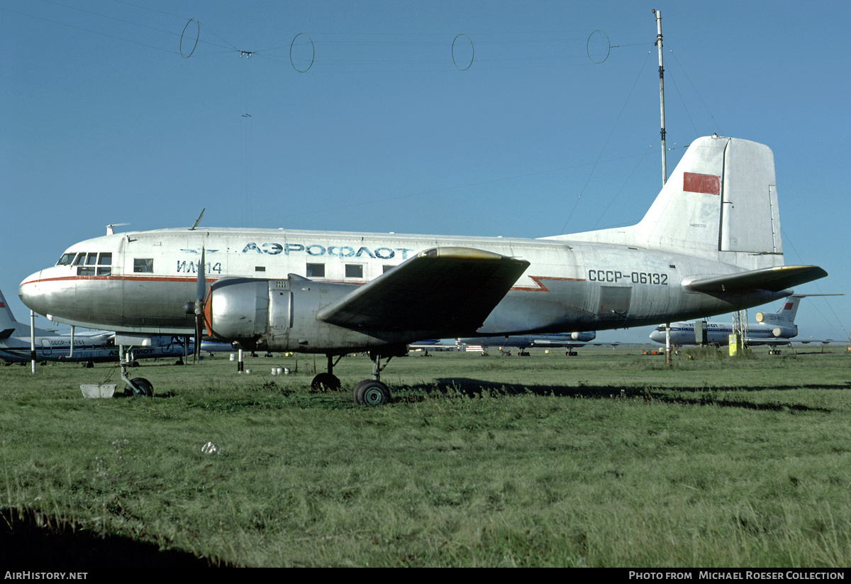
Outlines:
{"type": "Polygon", "coordinates": [[[433,353],[379,408],[367,358],[0,367],[0,567],[848,566],[851,357],[803,351],[433,353]]]}

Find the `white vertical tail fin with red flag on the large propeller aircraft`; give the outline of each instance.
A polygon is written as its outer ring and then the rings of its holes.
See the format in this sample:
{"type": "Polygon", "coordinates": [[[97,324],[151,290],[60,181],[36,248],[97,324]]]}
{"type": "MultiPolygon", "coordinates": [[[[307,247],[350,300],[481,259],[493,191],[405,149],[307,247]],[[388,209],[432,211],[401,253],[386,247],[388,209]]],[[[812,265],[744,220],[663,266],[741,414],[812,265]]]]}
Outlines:
{"type": "Polygon", "coordinates": [[[782,266],[774,154],[749,140],[699,138],[637,225],[553,239],[677,251],[748,270],[782,266]]]}

